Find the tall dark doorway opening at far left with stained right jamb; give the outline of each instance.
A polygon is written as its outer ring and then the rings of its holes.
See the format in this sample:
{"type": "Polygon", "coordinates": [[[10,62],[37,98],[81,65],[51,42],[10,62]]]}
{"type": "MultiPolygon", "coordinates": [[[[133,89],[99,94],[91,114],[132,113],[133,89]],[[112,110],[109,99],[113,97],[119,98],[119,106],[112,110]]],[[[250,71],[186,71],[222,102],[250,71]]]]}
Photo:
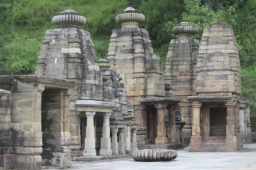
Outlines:
{"type": "Polygon", "coordinates": [[[65,89],[42,92],[41,122],[43,166],[70,166],[69,105],[65,89]],[[63,163],[66,162],[66,165],[63,163]]]}

